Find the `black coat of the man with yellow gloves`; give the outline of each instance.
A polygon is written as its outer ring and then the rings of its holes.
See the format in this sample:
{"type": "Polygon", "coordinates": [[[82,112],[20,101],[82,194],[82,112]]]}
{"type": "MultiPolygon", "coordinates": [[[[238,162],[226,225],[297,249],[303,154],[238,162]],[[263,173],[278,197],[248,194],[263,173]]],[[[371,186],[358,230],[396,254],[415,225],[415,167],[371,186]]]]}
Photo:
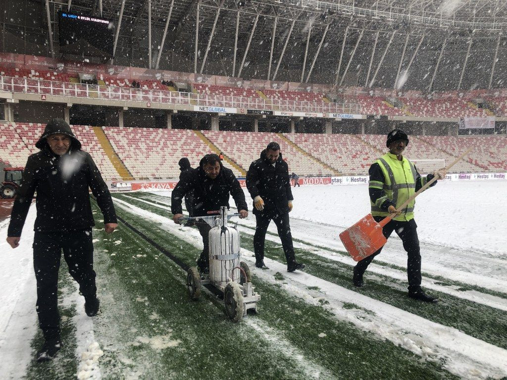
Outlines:
{"type": "MultiPolygon", "coordinates": [[[[284,214],[288,212],[288,201],[294,200],[291,190],[291,181],[288,175],[288,166],[278,157],[275,166],[268,161],[266,149],[261,153],[261,158],[253,161],[246,173],[246,188],[252,199],[258,195],[264,200],[266,211],[276,211],[284,214]]],[[[263,211],[265,212],[265,211],[263,211]]],[[[260,213],[253,207],[253,213],[260,213]]]]}

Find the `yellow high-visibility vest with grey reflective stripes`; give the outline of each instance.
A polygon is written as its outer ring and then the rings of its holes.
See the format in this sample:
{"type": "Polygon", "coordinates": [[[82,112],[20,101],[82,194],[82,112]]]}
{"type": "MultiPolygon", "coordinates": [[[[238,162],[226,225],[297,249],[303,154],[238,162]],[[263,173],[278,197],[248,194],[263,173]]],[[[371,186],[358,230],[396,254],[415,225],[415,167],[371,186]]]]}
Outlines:
{"type": "MultiPolygon", "coordinates": [[[[381,210],[380,206],[387,199],[399,208],[407,199],[415,194],[415,185],[417,172],[414,164],[403,157],[402,161],[398,160],[396,155],[387,153],[377,161],[382,173],[384,174],[384,182],[370,181],[369,187],[383,189],[384,194],[377,199],[375,203],[370,200],[373,216],[388,216],[389,212],[381,210]]],[[[425,180],[426,178],[421,178],[425,180]]],[[[399,216],[393,218],[398,221],[409,221],[414,218],[415,199],[412,200],[399,216]]]]}

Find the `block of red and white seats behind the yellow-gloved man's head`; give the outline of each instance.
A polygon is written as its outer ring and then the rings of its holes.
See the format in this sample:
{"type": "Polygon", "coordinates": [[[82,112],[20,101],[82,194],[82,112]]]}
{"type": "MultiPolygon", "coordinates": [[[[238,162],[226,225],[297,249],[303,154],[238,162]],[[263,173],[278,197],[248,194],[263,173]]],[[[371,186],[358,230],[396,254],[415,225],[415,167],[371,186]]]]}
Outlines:
{"type": "Polygon", "coordinates": [[[280,144],[282,157],[286,159],[289,172],[299,175],[331,174],[328,168],[308,153],[289,144],[276,133],[219,131],[202,131],[202,133],[245,170],[248,170],[252,161],[260,158],[261,151],[266,148],[268,143],[276,141],[280,144]]]}

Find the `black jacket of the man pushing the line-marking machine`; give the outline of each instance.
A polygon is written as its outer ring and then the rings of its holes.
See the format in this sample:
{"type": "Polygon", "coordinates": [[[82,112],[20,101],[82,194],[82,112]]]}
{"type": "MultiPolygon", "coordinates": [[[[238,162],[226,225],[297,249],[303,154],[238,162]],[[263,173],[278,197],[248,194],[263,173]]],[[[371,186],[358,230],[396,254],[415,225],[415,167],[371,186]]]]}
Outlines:
{"type": "Polygon", "coordinates": [[[202,162],[196,169],[182,172],[180,180],[171,195],[171,212],[182,214],[182,199],[189,191],[194,192],[194,216],[207,216],[208,211],[220,210],[221,206],[229,207],[230,195],[234,198],[238,210],[248,211],[245,194],[231,169],[220,162],[220,173],[215,179],[209,178],[202,162]]]}

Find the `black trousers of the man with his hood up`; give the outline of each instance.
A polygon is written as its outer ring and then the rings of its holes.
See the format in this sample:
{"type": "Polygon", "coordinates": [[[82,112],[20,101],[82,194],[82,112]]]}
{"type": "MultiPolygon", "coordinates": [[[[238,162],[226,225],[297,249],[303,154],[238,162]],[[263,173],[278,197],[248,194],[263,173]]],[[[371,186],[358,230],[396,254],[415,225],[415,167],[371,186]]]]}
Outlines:
{"type": "Polygon", "coordinates": [[[37,280],[37,314],[46,339],[60,333],[57,295],[62,250],[69,273],[79,283],[81,294],[86,297],[97,291],[91,230],[50,234],[35,232],[33,269],[37,280]]]}

